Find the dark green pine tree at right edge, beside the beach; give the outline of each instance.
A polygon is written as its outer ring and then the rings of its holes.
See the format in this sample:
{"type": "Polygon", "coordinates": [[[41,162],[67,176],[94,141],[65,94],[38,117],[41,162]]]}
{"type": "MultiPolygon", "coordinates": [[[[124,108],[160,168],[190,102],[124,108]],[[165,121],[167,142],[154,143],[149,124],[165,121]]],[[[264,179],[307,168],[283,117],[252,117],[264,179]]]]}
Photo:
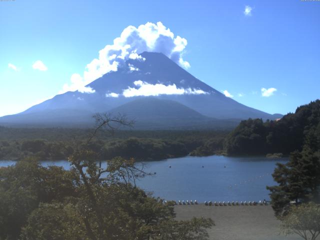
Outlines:
{"type": "Polygon", "coordinates": [[[292,152],[286,164],[277,163],[272,176],[278,185],[267,186],[276,215],[286,214],[290,202],[320,201],[319,149],[317,130],[309,131],[302,151],[292,152]]]}

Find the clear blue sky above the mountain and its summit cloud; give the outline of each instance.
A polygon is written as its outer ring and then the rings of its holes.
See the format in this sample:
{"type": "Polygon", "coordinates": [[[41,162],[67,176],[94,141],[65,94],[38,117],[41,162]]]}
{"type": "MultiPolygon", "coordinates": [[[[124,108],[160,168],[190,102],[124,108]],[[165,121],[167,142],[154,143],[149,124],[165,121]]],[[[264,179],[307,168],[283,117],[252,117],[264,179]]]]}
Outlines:
{"type": "Polygon", "coordinates": [[[0,1],[0,116],[56,95],[148,21],[185,38],[187,70],[240,103],[287,113],[320,97],[320,1],[15,0],[0,1]]]}

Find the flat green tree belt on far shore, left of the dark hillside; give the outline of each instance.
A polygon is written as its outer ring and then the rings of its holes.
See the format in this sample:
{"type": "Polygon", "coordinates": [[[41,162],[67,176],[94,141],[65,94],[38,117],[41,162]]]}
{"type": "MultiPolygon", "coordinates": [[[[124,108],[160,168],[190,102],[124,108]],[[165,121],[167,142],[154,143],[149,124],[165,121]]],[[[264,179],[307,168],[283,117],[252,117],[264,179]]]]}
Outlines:
{"type": "MultiPolygon", "coordinates": [[[[28,156],[41,160],[66,159],[74,142],[77,145],[86,144],[85,139],[90,132],[89,129],[3,127],[0,131],[0,159],[5,160],[28,156]],[[26,137],[26,133],[30,135],[26,137]]],[[[224,131],[117,131],[110,137],[110,134],[99,132],[98,139],[92,140],[88,147],[96,151],[100,159],[122,156],[136,160],[159,160],[187,154],[219,153],[223,150],[226,134],[224,131]]]]}

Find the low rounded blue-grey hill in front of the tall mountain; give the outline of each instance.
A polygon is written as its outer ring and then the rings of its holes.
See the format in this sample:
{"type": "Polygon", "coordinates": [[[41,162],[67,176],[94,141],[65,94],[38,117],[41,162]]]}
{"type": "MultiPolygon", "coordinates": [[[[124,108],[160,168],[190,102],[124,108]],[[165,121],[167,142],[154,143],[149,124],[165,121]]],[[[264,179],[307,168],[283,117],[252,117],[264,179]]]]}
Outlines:
{"type": "Polygon", "coordinates": [[[136,129],[233,128],[240,119],[219,120],[204,116],[173,100],[141,97],[110,110],[135,121],[136,129]]]}

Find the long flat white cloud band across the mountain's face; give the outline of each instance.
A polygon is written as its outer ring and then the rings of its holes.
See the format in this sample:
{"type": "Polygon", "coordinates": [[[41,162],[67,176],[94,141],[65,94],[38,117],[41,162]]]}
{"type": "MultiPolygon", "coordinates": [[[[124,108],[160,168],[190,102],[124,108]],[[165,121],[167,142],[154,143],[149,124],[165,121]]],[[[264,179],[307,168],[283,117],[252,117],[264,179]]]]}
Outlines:
{"type": "Polygon", "coordinates": [[[201,89],[191,89],[191,88],[177,88],[175,84],[172,85],[164,85],[160,83],[149,84],[147,82],[143,82],[141,80],[137,80],[133,82],[138,88],[128,87],[124,89],[122,94],[125,97],[132,96],[158,96],[161,94],[208,94],[201,89]]]}

